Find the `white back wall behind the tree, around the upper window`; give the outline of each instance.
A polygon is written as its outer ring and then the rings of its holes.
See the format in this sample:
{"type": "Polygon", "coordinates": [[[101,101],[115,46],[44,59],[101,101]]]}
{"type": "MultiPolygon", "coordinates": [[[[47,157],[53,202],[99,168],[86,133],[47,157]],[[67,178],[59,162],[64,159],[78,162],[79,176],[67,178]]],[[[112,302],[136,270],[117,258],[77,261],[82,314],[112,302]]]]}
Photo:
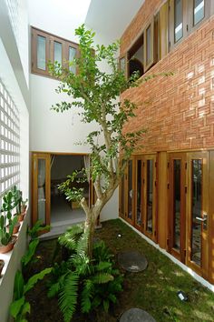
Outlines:
{"type": "MultiPolygon", "coordinates": [[[[81,1],[79,1],[81,2],[81,1]]],[[[29,23],[53,35],[62,36],[71,41],[78,42],[74,36],[74,28],[82,25],[86,12],[83,6],[78,15],[73,16],[74,7],[69,0],[39,0],[28,1],[29,23]],[[70,5],[70,7],[68,6],[70,5]],[[43,8],[43,10],[41,10],[43,8]],[[71,9],[69,9],[71,8],[71,9]],[[63,17],[63,19],[62,19],[63,17]],[[60,24],[58,23],[60,21],[60,24]]],[[[73,1],[76,4],[76,1],[73,1]]],[[[97,34],[95,41],[99,44],[108,44],[108,39],[103,39],[97,34]]],[[[101,64],[103,70],[108,68],[101,64]]],[[[95,124],[80,122],[78,110],[66,111],[63,114],[51,110],[51,106],[60,101],[69,101],[72,98],[66,94],[56,94],[55,88],[58,81],[48,77],[31,74],[31,130],[30,149],[41,152],[61,153],[89,153],[89,146],[76,145],[84,141],[87,134],[96,129],[95,124]]],[[[103,218],[118,216],[118,191],[103,209],[103,218]]]]}

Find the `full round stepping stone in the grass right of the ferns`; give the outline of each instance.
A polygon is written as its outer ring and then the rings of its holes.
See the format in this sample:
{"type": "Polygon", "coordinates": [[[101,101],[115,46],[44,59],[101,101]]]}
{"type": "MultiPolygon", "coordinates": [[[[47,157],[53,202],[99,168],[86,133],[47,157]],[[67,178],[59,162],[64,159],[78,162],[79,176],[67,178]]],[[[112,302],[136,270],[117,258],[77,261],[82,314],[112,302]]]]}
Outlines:
{"type": "Polygon", "coordinates": [[[141,272],[148,266],[146,257],[135,250],[119,253],[118,262],[123,269],[134,273],[141,272]]]}

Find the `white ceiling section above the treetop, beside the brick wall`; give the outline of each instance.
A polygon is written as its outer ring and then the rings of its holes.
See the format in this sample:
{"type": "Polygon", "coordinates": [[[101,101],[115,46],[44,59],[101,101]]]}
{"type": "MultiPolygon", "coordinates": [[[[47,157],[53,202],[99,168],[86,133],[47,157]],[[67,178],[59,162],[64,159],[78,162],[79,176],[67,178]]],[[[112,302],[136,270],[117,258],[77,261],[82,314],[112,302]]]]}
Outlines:
{"type": "Polygon", "coordinates": [[[145,0],[92,0],[85,25],[109,40],[119,39],[145,0]]]}

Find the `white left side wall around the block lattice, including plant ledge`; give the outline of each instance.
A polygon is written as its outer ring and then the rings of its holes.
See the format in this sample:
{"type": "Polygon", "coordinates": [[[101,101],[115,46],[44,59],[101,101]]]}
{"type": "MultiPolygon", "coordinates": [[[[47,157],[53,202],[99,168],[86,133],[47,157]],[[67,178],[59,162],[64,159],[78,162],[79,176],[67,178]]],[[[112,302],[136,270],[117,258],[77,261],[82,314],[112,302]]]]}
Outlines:
{"type": "MultiPolygon", "coordinates": [[[[25,0],[0,0],[0,78],[20,115],[20,187],[29,196],[29,90],[28,90],[28,25],[25,0]],[[7,5],[15,5],[19,15],[12,15],[7,5]],[[17,23],[22,20],[22,25],[17,23]],[[17,30],[15,32],[15,26],[17,30]],[[22,39],[23,42],[18,41],[22,39]]],[[[4,277],[0,280],[0,320],[6,322],[13,299],[14,279],[26,246],[26,220],[19,233],[15,250],[5,259],[4,277]]]]}

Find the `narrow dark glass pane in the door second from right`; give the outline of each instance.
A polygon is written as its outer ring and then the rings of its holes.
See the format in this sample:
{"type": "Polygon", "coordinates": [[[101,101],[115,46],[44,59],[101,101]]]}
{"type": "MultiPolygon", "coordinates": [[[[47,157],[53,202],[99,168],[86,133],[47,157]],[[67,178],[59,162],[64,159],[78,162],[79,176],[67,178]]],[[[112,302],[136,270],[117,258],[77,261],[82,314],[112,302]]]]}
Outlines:
{"type": "Polygon", "coordinates": [[[173,247],[180,250],[180,160],[173,162],[173,247]]]}

